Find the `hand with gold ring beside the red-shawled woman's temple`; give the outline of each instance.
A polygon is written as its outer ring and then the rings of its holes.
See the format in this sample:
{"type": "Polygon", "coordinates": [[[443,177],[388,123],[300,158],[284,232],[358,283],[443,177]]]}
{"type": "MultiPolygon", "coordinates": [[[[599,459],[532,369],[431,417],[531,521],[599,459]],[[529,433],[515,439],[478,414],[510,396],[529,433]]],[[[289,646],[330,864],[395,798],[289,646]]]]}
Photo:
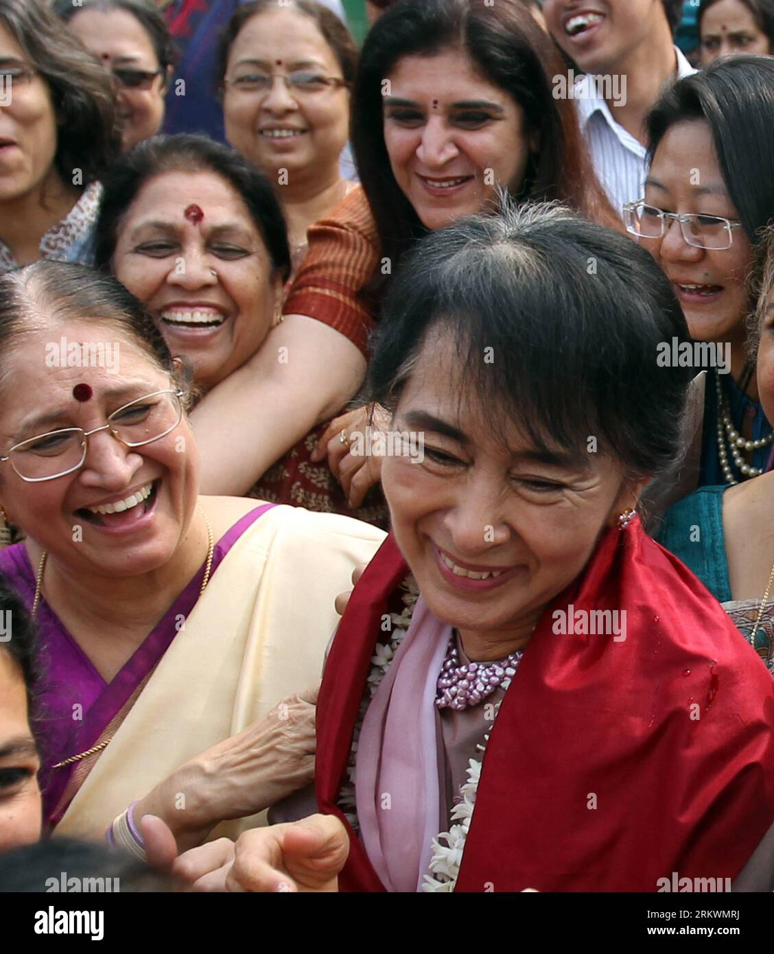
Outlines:
{"type": "Polygon", "coordinates": [[[340,414],[325,428],[317,442],[312,460],[319,462],[328,455],[328,465],[341,485],[351,508],[362,504],[369,487],[378,484],[381,479],[381,457],[373,457],[367,451],[366,427],[373,433],[386,430],[389,416],[383,408],[375,407],[372,421],[372,405],[356,407],[353,411],[340,414]],[[341,432],[347,436],[347,443],[341,441],[341,432]],[[356,435],[360,439],[356,439],[356,435]],[[353,453],[355,451],[355,453],[353,453]],[[358,452],[359,451],[359,452],[358,452]]]}

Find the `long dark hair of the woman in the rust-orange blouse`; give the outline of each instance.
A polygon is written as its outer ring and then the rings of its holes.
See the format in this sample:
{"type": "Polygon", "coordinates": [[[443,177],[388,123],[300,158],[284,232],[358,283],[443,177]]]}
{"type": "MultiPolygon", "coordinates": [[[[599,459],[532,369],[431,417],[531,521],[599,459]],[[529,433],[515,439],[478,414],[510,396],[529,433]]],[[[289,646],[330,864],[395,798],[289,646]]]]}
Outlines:
{"type": "Polygon", "coordinates": [[[381,254],[393,271],[427,229],[390,166],[384,84],[403,57],[445,50],[465,52],[489,82],[508,93],[523,111],[524,135],[538,139],[523,181],[513,185],[519,199],[559,199],[590,218],[618,221],[591,166],[575,104],[554,95],[555,77],[564,73],[560,55],[521,0],[402,0],[366,36],[352,104],[357,170],[377,221],[381,254]]]}

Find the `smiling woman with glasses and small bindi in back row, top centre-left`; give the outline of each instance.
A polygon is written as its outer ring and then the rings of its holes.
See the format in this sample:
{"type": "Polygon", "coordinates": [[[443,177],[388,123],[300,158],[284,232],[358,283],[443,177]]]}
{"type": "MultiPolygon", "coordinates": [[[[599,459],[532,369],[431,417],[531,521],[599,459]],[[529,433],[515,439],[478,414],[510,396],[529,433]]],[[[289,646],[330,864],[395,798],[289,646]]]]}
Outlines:
{"type": "Polygon", "coordinates": [[[353,188],[339,169],[350,122],[355,41],[315,0],[254,0],[231,19],[218,53],[226,138],[275,183],[294,268],[306,230],[353,188]]]}

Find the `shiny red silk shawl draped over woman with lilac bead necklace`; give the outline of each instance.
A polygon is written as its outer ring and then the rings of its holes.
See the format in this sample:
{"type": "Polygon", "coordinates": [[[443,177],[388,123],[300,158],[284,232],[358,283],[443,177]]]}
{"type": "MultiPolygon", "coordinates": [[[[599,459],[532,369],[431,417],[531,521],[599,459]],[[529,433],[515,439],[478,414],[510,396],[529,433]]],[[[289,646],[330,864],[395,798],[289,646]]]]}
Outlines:
{"type": "MultiPolygon", "coordinates": [[[[316,796],[350,833],[344,891],[383,891],[336,806],[381,617],[408,572],[387,538],[341,620],[317,702],[316,796]]],[[[483,757],[457,891],[656,891],[734,878],[774,820],[774,680],[639,519],[549,606],[483,757]],[[626,639],[553,612],[626,611],[626,639]],[[698,713],[698,717],[697,717],[698,713]],[[693,717],[691,717],[693,716],[693,717]]]]}

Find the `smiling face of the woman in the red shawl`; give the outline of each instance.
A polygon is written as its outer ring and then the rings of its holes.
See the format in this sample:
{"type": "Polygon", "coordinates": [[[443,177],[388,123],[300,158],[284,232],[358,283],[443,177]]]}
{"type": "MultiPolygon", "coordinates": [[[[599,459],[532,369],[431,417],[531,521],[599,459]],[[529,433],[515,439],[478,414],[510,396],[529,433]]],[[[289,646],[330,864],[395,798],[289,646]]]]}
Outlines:
{"type": "Polygon", "coordinates": [[[502,646],[531,633],[629,503],[609,457],[540,455],[515,425],[506,446],[489,421],[459,379],[454,342],[432,334],[393,425],[424,432],[424,461],[386,457],[381,476],[397,545],[431,611],[463,642],[476,633],[479,645],[502,646]]]}

